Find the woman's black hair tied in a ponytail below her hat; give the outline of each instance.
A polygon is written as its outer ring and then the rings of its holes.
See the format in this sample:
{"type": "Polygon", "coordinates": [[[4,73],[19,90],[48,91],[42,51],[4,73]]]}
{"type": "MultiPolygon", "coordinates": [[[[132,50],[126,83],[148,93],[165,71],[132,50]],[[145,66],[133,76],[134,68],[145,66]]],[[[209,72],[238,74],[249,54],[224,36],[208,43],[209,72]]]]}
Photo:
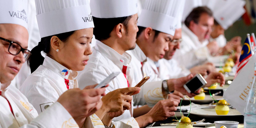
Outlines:
{"type": "Polygon", "coordinates": [[[70,35],[72,35],[74,32],[75,31],[71,31],[41,38],[41,41],[38,43],[38,45],[31,50],[31,56],[28,58],[28,65],[30,66],[31,73],[34,72],[44,62],[45,58],[41,55],[41,51],[44,51],[46,56],[51,56],[50,48],[52,36],[57,36],[61,41],[66,42],[70,35]]]}

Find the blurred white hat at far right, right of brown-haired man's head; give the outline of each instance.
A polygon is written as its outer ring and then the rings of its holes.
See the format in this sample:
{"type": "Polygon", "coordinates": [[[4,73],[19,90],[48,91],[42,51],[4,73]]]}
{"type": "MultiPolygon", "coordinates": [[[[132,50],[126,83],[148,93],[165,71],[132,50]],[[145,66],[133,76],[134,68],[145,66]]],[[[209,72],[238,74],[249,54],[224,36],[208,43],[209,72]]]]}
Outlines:
{"type": "Polygon", "coordinates": [[[226,30],[245,13],[245,3],[244,0],[206,0],[203,4],[213,11],[214,19],[226,30]]]}

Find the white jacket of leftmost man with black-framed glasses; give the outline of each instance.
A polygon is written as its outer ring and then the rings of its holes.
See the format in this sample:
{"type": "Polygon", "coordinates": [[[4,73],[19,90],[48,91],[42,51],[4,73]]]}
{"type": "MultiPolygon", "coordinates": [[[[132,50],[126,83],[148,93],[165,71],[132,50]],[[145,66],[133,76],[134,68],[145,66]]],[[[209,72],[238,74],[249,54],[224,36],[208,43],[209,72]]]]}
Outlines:
{"type": "Polygon", "coordinates": [[[0,102],[0,128],[61,128],[64,124],[78,127],[59,102],[38,116],[26,96],[11,85],[0,91],[0,102]]]}

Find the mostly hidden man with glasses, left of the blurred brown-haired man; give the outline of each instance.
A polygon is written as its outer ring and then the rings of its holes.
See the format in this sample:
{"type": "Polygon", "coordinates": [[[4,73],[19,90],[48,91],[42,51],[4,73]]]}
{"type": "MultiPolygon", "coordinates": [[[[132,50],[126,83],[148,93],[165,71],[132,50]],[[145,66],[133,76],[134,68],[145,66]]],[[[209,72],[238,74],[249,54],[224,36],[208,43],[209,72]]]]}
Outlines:
{"type": "MultiPolygon", "coordinates": [[[[181,29],[181,20],[178,21],[176,31],[174,34],[174,39],[169,43],[169,50],[165,52],[163,59],[160,59],[158,62],[155,62],[158,69],[159,76],[162,80],[167,80],[171,78],[180,78],[187,76],[188,74],[197,74],[200,73],[202,76],[207,76],[206,87],[210,87],[213,83],[221,83],[221,86],[224,85],[225,79],[224,75],[220,72],[213,72],[215,69],[210,63],[204,65],[199,65],[191,68],[190,70],[185,67],[178,65],[177,61],[172,59],[176,50],[180,48],[180,43],[182,41],[182,29],[181,29]]],[[[152,66],[154,67],[154,65],[152,66]]]]}

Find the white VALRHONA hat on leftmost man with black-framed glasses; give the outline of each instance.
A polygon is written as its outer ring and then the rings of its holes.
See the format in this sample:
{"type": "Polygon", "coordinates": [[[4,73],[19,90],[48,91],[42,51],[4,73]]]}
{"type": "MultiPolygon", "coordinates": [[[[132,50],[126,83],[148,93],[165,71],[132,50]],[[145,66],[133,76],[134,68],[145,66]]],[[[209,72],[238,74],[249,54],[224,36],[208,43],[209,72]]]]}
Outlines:
{"type": "Polygon", "coordinates": [[[28,29],[28,0],[0,0],[0,24],[19,24],[28,29]]]}

